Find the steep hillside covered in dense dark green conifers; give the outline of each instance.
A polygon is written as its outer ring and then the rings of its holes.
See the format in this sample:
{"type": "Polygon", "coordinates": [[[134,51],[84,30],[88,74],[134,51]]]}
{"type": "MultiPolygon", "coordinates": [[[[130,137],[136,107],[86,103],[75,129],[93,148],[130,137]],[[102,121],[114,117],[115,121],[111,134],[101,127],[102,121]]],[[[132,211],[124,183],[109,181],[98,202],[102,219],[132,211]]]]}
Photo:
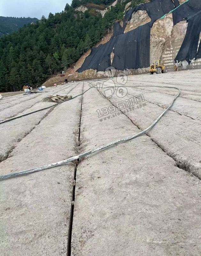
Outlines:
{"type": "Polygon", "coordinates": [[[43,16],[40,22],[1,37],[0,92],[42,84],[50,68],[56,74],[70,67],[122,19],[124,7],[125,3],[118,3],[102,18],[93,8],[82,13],[66,4],[65,11],[50,13],[47,19],[43,16]]]}

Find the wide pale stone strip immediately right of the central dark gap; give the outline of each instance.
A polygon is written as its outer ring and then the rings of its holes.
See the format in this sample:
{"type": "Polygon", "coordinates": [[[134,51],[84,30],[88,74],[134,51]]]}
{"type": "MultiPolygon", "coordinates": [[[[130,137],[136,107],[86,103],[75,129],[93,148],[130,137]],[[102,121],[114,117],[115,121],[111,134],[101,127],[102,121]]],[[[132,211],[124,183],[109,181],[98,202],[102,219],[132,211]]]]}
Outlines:
{"type": "MultiPolygon", "coordinates": [[[[135,76],[132,78],[135,82],[135,76]]],[[[153,79],[157,82],[162,78],[153,79]]],[[[123,100],[113,97],[115,102],[123,100]]],[[[139,132],[136,121],[146,123],[150,115],[147,123],[151,124],[159,114],[155,116],[156,108],[149,105],[139,114],[135,110],[132,120],[122,114],[110,119],[105,116],[100,122],[96,109],[110,105],[96,90],[83,97],[82,151],[135,134],[139,132]]],[[[175,125],[184,125],[185,118],[179,120],[174,114],[170,111],[162,118],[152,130],[155,136],[169,125],[172,129],[163,136],[171,140],[175,125]]],[[[185,127],[182,136],[191,129],[185,127]]],[[[153,134],[94,154],[78,165],[71,255],[200,255],[200,180],[179,169],[158,142],[152,141],[153,134]]],[[[201,142],[195,133],[194,138],[201,142]]],[[[169,145],[175,148],[173,143],[169,145]]]]}

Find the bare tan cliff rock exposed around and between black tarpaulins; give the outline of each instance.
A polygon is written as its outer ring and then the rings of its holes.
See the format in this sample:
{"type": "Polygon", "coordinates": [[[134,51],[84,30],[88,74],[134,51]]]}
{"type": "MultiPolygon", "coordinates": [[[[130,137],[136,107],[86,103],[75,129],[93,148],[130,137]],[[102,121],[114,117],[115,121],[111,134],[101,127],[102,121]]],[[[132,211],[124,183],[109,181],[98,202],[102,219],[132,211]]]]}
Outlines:
{"type": "MultiPolygon", "coordinates": [[[[116,1],[115,1],[116,2],[116,1]]],[[[180,0],[179,3],[184,3],[184,0],[180,0]]],[[[128,11],[131,8],[131,2],[126,5],[125,10],[128,11]]],[[[126,12],[125,12],[126,13],[126,12]]],[[[138,10],[134,12],[127,22],[124,33],[133,30],[139,26],[142,26],[151,19],[146,10],[138,10]]],[[[120,23],[122,26],[122,23],[120,23]]],[[[165,17],[156,20],[151,27],[150,34],[150,63],[153,63],[156,59],[162,59],[164,65],[169,71],[174,68],[174,59],[179,52],[187,30],[187,22],[185,20],[178,22],[173,26],[173,14],[166,14],[165,17]]],[[[112,34],[107,35],[104,40],[99,44],[106,43],[111,38],[112,34]]],[[[199,38],[200,41],[200,38],[199,38]]],[[[98,45],[99,45],[98,44],[98,45]]],[[[97,46],[98,46],[97,45],[97,46]]],[[[67,77],[68,80],[83,80],[83,79],[97,79],[104,78],[104,72],[93,69],[87,69],[83,72],[76,72],[81,67],[85,58],[90,54],[90,51],[85,53],[81,59],[75,64],[75,68],[68,69],[64,79],[67,77]]],[[[113,59],[113,53],[111,54],[111,60],[113,59]]],[[[190,65],[186,60],[182,61],[182,69],[190,68],[201,68],[201,59],[192,60],[190,65]]],[[[124,70],[126,74],[141,74],[148,72],[149,68],[138,68],[124,70]]],[[[64,80],[63,79],[63,80],[64,80]]],[[[53,83],[59,83],[60,77],[54,77],[46,81],[44,85],[52,85],[53,83]]]]}

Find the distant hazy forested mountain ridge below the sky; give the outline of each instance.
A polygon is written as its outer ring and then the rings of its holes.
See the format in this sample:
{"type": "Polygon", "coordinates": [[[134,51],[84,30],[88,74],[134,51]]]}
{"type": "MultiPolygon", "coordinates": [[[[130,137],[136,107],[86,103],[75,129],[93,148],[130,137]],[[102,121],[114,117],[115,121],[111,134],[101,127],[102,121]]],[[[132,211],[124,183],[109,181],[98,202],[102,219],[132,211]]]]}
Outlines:
{"type": "Polygon", "coordinates": [[[9,35],[12,32],[18,30],[18,28],[23,27],[32,22],[38,21],[37,18],[15,18],[15,17],[3,17],[0,16],[0,37],[4,35],[9,35]]]}

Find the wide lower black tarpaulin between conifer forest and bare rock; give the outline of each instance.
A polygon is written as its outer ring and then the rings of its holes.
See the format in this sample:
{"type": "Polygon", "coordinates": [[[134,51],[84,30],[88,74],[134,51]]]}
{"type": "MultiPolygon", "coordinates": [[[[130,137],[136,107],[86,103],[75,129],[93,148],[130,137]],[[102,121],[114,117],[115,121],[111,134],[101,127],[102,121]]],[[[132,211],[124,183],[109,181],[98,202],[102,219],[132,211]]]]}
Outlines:
{"type": "Polygon", "coordinates": [[[150,31],[150,24],[147,23],[111,38],[106,44],[94,48],[77,71],[82,72],[90,68],[105,71],[111,65],[119,70],[148,67],[150,64],[150,31]],[[112,52],[114,58],[111,64],[112,52]]]}

